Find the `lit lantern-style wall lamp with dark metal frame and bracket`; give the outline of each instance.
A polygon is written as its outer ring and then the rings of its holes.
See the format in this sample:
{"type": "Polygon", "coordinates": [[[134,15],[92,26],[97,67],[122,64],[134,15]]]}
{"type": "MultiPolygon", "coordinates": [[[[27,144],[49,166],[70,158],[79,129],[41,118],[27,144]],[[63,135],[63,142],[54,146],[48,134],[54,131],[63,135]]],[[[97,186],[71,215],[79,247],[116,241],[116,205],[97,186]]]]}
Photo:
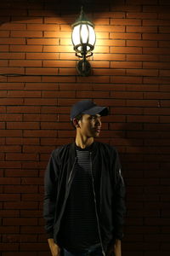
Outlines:
{"type": "Polygon", "coordinates": [[[79,18],[72,24],[72,44],[76,55],[82,58],[77,63],[77,71],[82,76],[88,76],[91,73],[91,66],[87,57],[93,55],[96,36],[94,32],[94,24],[88,20],[83,9],[79,18]]]}

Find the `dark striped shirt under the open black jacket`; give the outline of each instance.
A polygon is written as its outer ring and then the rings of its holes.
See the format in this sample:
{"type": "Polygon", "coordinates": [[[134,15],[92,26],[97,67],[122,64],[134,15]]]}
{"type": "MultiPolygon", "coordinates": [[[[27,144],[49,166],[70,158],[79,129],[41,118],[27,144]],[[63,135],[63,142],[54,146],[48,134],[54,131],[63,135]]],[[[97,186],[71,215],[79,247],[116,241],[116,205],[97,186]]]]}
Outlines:
{"type": "Polygon", "coordinates": [[[94,205],[93,177],[90,149],[77,149],[76,174],[71,184],[70,195],[66,202],[64,217],[60,226],[60,241],[67,250],[82,250],[99,243],[99,230],[94,205]]]}

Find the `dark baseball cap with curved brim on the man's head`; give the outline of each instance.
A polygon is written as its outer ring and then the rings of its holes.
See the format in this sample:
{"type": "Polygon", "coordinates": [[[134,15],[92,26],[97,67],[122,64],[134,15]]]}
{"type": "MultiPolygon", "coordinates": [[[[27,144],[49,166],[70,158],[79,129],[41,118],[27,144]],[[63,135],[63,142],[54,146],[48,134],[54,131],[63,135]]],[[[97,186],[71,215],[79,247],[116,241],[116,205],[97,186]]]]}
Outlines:
{"type": "Polygon", "coordinates": [[[88,113],[91,115],[99,113],[101,116],[108,115],[109,109],[107,107],[99,107],[91,100],[83,100],[77,102],[71,108],[71,120],[77,117],[78,114],[88,113]]]}

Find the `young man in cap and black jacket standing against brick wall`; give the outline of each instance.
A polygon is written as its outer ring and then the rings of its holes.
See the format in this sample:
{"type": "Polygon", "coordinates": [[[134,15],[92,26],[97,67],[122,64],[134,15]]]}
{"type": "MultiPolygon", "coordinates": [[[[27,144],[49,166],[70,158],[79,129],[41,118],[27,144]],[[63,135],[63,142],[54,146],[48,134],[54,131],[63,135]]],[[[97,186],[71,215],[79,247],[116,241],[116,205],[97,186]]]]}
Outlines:
{"type": "Polygon", "coordinates": [[[54,149],[45,173],[43,217],[53,256],[121,256],[125,185],[116,148],[94,142],[108,108],[71,108],[74,143],[54,149]]]}

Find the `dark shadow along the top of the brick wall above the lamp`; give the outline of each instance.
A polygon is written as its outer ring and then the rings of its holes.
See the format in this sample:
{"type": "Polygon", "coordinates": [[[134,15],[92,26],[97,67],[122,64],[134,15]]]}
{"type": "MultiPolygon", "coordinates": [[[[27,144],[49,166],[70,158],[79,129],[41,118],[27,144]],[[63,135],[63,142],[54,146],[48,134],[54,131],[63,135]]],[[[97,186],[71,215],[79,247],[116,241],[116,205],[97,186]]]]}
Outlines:
{"type": "Polygon", "coordinates": [[[89,18],[93,18],[92,13],[103,13],[111,10],[114,5],[125,3],[125,0],[8,0],[0,3],[1,18],[0,24],[21,21],[38,20],[40,17],[58,17],[64,23],[74,22],[80,14],[81,6],[89,18]],[[12,16],[12,18],[11,18],[12,16]]]}

